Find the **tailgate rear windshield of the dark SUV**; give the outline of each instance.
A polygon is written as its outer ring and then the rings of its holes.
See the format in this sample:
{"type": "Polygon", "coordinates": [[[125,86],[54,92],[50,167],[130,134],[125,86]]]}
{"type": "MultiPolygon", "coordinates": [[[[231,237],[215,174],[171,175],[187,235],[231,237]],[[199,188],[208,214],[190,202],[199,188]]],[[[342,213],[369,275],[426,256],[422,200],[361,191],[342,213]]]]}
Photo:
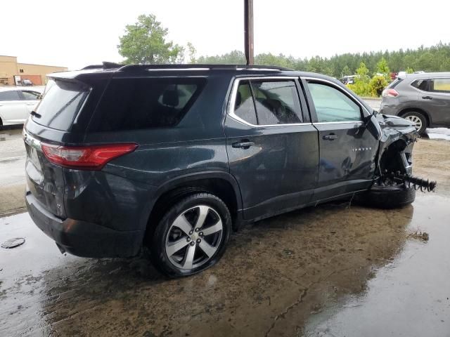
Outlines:
{"type": "Polygon", "coordinates": [[[83,84],[51,80],[32,119],[49,128],[68,131],[88,93],[89,88],[83,84]]]}

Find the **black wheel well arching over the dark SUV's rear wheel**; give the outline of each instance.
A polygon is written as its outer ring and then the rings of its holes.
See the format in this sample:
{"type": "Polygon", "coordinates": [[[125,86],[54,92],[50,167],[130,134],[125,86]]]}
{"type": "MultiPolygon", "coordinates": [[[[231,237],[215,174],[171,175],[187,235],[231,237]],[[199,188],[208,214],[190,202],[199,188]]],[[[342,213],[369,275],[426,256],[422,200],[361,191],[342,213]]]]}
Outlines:
{"type": "Polygon", "coordinates": [[[232,223],[236,222],[238,201],[231,183],[221,178],[199,179],[177,185],[158,197],[148,218],[147,234],[153,232],[155,225],[158,224],[170,206],[184,197],[198,192],[209,192],[219,197],[230,210],[232,223]]]}

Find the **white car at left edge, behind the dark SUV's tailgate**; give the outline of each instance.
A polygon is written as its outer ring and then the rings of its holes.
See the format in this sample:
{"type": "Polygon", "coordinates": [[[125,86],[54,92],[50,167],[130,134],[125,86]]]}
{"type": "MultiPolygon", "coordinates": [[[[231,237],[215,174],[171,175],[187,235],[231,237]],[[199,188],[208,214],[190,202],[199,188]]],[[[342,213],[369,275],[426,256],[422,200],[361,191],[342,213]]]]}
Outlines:
{"type": "Polygon", "coordinates": [[[40,97],[34,88],[0,88],[0,126],[25,123],[40,97]]]}

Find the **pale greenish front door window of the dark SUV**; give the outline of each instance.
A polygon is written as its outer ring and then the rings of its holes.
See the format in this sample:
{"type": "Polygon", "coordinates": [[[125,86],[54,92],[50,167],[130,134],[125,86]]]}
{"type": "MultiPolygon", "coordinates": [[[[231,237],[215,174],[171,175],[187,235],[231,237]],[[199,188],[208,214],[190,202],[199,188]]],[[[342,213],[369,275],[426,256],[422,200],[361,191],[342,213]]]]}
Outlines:
{"type": "Polygon", "coordinates": [[[332,86],[308,83],[319,122],[360,121],[361,108],[332,86]]]}

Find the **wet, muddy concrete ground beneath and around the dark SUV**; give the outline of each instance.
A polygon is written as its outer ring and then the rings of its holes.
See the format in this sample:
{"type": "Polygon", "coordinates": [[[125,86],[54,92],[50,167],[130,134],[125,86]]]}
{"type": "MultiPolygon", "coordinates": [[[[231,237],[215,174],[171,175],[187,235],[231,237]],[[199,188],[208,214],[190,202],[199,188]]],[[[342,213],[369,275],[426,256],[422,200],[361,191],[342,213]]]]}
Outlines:
{"type": "Polygon", "coordinates": [[[63,256],[27,213],[0,218],[0,242],[26,239],[0,249],[0,336],[450,336],[450,142],[420,140],[414,160],[436,193],[260,221],[185,279],[63,256]]]}

